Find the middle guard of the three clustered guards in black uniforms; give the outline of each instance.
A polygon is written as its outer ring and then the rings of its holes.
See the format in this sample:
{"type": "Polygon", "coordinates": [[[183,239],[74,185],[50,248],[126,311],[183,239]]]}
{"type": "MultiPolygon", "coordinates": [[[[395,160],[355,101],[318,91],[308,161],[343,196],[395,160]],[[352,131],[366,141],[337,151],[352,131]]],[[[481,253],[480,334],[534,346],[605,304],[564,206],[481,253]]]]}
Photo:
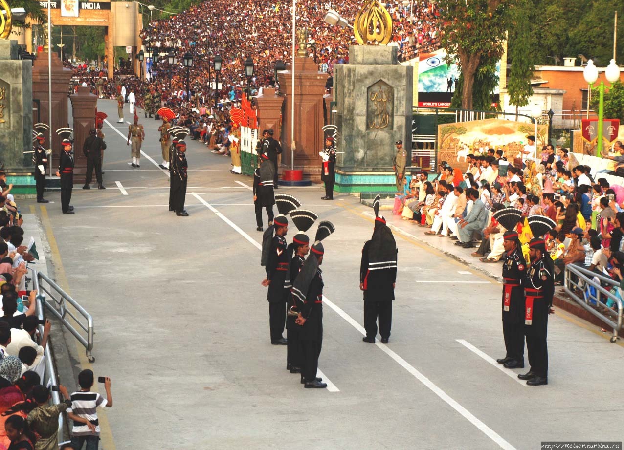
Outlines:
{"type": "Polygon", "coordinates": [[[293,283],[297,279],[297,275],[303,268],[303,263],[306,261],[305,256],[310,251],[310,237],[303,233],[295,234],[293,242],[288,246],[290,266],[288,266],[288,272],[286,273],[286,289],[288,294],[286,299],[288,300],[287,314],[286,314],[286,330],[288,330],[288,348],[286,352],[286,370],[290,370],[290,373],[301,373],[301,367],[303,366],[303,349],[301,348],[300,339],[300,325],[295,323],[295,318],[298,316],[296,312],[295,300],[293,295],[290,294],[290,288],[293,287],[293,283]]]}

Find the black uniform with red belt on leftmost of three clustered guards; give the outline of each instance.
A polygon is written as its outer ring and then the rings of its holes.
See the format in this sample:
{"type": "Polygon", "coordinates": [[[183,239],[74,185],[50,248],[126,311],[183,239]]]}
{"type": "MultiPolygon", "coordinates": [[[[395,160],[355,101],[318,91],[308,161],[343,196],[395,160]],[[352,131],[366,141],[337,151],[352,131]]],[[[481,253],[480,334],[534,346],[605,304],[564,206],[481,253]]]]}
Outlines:
{"type": "Polygon", "coordinates": [[[286,289],[284,287],[286,272],[288,271],[288,252],[286,252],[286,239],[281,236],[273,236],[271,249],[266,264],[266,279],[269,284],[266,300],[269,302],[269,326],[271,330],[271,342],[282,339],[286,324],[286,289]]]}

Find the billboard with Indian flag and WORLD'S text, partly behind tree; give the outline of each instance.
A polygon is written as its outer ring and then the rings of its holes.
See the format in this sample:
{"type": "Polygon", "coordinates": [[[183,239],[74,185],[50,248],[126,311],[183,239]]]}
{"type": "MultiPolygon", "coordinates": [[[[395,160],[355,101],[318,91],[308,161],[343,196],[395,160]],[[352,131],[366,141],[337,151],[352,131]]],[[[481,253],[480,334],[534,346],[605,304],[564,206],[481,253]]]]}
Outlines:
{"type": "MultiPolygon", "coordinates": [[[[448,108],[461,74],[459,66],[447,64],[446,50],[439,49],[431,53],[421,53],[418,62],[418,106],[430,108],[448,108]]],[[[496,74],[500,77],[500,61],[496,65],[496,74]]],[[[499,94],[497,86],[493,92],[499,94]]]]}

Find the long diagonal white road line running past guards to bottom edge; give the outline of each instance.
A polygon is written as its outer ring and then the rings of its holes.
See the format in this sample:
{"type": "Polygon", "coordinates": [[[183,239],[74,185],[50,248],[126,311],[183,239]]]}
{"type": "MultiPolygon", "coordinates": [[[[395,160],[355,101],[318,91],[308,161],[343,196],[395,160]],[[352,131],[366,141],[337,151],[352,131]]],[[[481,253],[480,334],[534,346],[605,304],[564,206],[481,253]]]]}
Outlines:
{"type": "MultiPolygon", "coordinates": [[[[217,209],[215,209],[210,203],[208,203],[207,201],[202,199],[200,196],[198,196],[197,193],[191,193],[191,194],[195,198],[197,198],[200,202],[202,202],[205,206],[207,206],[208,209],[210,209],[215,214],[217,214],[223,221],[225,221],[225,223],[227,223],[233,229],[238,231],[241,234],[241,236],[245,237],[245,239],[247,239],[247,241],[251,242],[251,244],[253,244],[253,246],[255,246],[259,250],[262,249],[262,246],[260,244],[258,244],[258,242],[256,242],[255,240],[251,239],[251,237],[246,232],[242,231],[230,219],[228,219],[227,217],[223,216],[223,214],[219,213],[217,211],[217,209]]],[[[356,322],[356,320],[353,317],[351,317],[350,315],[346,314],[346,312],[344,312],[343,309],[341,309],[337,305],[333,304],[333,302],[331,302],[324,295],[323,295],[323,302],[325,302],[326,305],[328,305],[331,309],[333,309],[340,317],[342,317],[344,320],[346,320],[346,322],[348,322],[352,327],[354,327],[356,330],[358,330],[362,335],[366,335],[366,330],[364,330],[364,327],[362,327],[358,322],[356,322]]],[[[434,383],[432,383],[432,381],[429,380],[429,378],[427,378],[426,376],[422,375],[422,373],[420,373],[418,370],[416,370],[416,368],[414,368],[414,366],[410,365],[406,360],[404,360],[403,358],[399,357],[399,355],[397,355],[397,353],[393,352],[388,347],[388,345],[382,344],[381,342],[376,343],[376,345],[382,352],[386,353],[386,355],[391,357],[394,361],[396,361],[399,365],[401,365],[402,368],[404,368],[409,373],[411,373],[411,375],[413,375],[418,381],[420,381],[424,386],[426,386],[429,390],[431,390],[434,394],[436,394],[439,398],[441,398],[441,400],[443,400],[445,403],[447,403],[447,405],[451,406],[451,408],[455,409],[457,411],[457,413],[461,414],[464,418],[466,418],[475,427],[479,428],[488,438],[492,439],[492,441],[497,443],[500,446],[500,448],[503,448],[505,450],[516,450],[515,447],[512,446],[512,444],[510,444],[507,441],[505,441],[505,439],[503,439],[502,436],[500,436],[493,429],[489,428],[489,426],[487,426],[482,421],[480,421],[478,418],[476,418],[474,416],[474,414],[470,413],[470,411],[468,411],[466,408],[464,408],[464,406],[462,406],[459,403],[457,403],[456,400],[451,398],[451,396],[449,396],[446,392],[441,390],[441,388],[439,388],[434,383]]],[[[328,380],[326,380],[326,377],[323,377],[323,380],[328,381],[328,380]]],[[[328,383],[328,389],[329,389],[329,383],[328,383]]]]}

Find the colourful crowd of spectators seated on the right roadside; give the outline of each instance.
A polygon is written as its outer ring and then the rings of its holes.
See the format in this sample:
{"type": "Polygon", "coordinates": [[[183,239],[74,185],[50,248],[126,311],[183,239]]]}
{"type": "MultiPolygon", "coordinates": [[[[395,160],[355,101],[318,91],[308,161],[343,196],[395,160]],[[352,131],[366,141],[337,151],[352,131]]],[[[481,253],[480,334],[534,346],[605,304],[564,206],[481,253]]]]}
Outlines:
{"type": "MultiPolygon", "coordinates": [[[[624,163],[620,141],[613,151],[618,156],[609,158],[624,163]]],[[[519,160],[507,161],[492,148],[485,155],[468,155],[465,171],[441,161],[432,181],[426,173],[412,174],[395,213],[426,227],[425,234],[454,239],[464,248],[480,242],[472,256],[482,262],[498,262],[504,254],[508,230],[496,221],[495,211],[509,206],[521,211],[517,231],[523,244],[533,237],[525,218],[547,216],[557,224],[545,236],[556,284],[562,284],[565,266],[577,264],[624,287],[624,188],[610,185],[600,172],[592,176],[592,168],[580,165],[566,148],[548,145],[537,160],[514,161],[519,160]]],[[[528,249],[524,253],[528,261],[528,249]]]]}

